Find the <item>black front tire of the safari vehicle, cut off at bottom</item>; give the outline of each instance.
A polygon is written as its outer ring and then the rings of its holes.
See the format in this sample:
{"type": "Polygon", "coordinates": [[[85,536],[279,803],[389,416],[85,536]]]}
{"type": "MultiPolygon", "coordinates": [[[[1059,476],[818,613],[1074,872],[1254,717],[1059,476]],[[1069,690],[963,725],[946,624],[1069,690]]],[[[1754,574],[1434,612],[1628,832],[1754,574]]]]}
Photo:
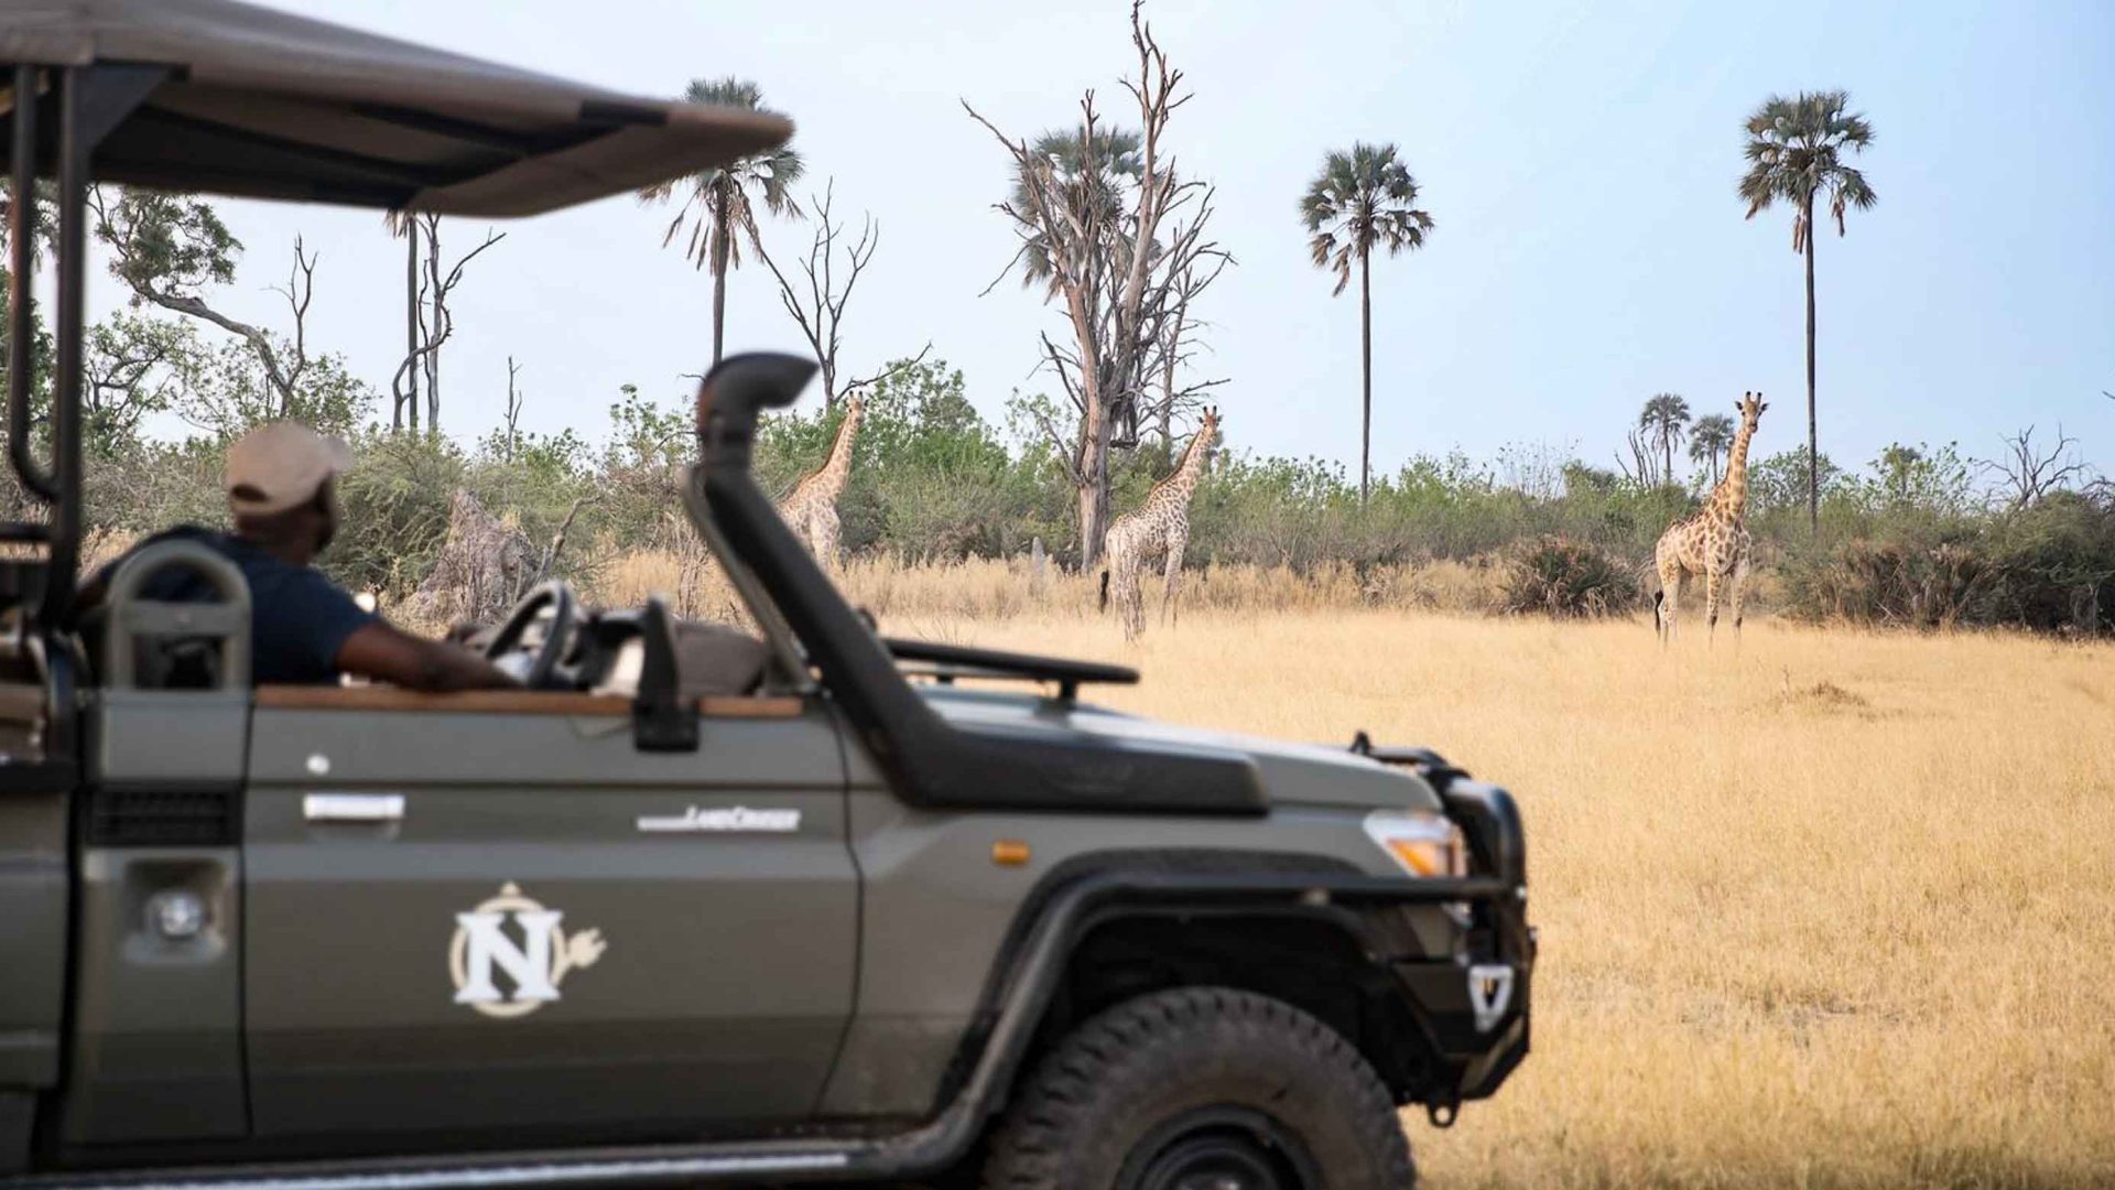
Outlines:
{"type": "Polygon", "coordinates": [[[990,1139],[983,1190],[1404,1190],[1411,1146],[1366,1059],[1290,1004],[1222,987],[1072,1031],[990,1139]]]}

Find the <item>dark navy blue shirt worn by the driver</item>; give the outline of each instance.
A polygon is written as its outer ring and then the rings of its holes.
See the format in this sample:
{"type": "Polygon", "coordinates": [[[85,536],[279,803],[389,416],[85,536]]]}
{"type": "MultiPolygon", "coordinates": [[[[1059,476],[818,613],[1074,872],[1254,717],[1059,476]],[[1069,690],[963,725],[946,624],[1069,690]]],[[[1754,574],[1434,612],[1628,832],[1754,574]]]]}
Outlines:
{"type": "MultiPolygon", "coordinates": [[[[345,648],[347,637],[374,620],[374,612],[353,603],[353,597],[324,578],[324,572],[311,565],[288,565],[228,534],[184,525],[140,544],[171,538],[212,548],[233,561],[250,582],[250,673],[258,686],[334,686],[338,682],[338,650],[345,648]]],[[[104,567],[104,580],[114,565],[104,567]]],[[[140,595],[169,603],[209,603],[216,599],[205,578],[182,567],[163,570],[148,580],[140,595]]]]}

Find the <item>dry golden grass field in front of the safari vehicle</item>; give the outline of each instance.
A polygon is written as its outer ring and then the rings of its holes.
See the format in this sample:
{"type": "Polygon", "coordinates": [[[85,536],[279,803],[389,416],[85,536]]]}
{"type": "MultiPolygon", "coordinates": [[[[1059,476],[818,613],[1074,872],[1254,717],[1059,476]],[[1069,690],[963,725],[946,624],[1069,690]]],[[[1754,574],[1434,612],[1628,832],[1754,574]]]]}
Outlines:
{"type": "Polygon", "coordinates": [[[884,627],[1132,661],[1096,697],[1364,726],[1521,796],[1535,1052],[1411,1120],[1430,1186],[2115,1184],[2115,650],[1210,610],[1127,648],[1079,595],[884,627]]]}

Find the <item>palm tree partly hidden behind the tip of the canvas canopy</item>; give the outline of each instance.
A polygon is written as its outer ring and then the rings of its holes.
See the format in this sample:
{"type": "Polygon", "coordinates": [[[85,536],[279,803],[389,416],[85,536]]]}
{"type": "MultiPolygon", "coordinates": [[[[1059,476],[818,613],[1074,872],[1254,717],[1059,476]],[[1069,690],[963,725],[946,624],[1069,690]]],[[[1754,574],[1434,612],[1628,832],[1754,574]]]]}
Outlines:
{"type": "MultiPolygon", "coordinates": [[[[713,104],[719,108],[744,108],[751,112],[772,112],[764,106],[764,91],[744,78],[694,78],[683,97],[692,104],[713,104]]],[[[776,112],[772,112],[776,114],[776,112]]],[[[675,244],[683,224],[689,224],[689,248],[685,254],[698,267],[713,267],[713,362],[719,362],[719,347],[728,324],[728,269],[742,267],[742,246],[736,233],[757,244],[755,199],[764,199],[770,214],[793,214],[799,218],[799,203],[793,201],[793,182],[802,176],[799,152],[778,146],[770,152],[742,157],[728,165],[700,169],[689,178],[677,178],[639,191],[639,197],[664,203],[675,197],[677,186],[687,186],[683,208],[675,212],[662,235],[662,248],[675,244]]]]}

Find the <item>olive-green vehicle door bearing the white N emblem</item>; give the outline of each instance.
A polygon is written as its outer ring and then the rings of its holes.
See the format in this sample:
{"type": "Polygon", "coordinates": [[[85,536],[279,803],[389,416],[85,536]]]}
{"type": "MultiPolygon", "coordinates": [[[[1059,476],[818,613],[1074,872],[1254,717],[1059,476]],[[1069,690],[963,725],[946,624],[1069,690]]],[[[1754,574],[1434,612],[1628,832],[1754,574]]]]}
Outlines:
{"type": "Polygon", "coordinates": [[[450,1143],[808,1114],[852,1010],[838,726],[713,699],[641,752],[596,695],[260,688],[243,822],[250,1103],[450,1143]]]}

